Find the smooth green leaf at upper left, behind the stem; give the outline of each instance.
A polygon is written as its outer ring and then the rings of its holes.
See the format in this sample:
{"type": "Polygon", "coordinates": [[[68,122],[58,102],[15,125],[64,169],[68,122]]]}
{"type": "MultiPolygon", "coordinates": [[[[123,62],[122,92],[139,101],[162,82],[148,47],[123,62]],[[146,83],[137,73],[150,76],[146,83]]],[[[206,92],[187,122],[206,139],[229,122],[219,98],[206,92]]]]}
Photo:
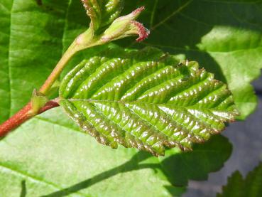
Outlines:
{"type": "Polygon", "coordinates": [[[60,59],[72,18],[65,19],[67,3],[0,1],[0,122],[31,100],[60,59]]]}

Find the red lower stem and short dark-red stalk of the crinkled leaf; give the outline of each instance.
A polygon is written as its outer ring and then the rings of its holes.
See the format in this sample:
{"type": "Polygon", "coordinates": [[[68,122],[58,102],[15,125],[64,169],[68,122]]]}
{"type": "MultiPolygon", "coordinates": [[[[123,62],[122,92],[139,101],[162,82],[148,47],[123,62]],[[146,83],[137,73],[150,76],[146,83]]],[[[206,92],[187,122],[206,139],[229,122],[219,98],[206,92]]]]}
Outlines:
{"type": "MultiPolygon", "coordinates": [[[[44,107],[42,107],[39,110],[38,115],[58,106],[59,106],[58,102],[56,102],[55,100],[50,100],[45,104],[44,107]]],[[[28,102],[28,104],[25,107],[23,107],[22,110],[20,110],[15,115],[10,117],[3,124],[0,124],[0,137],[4,137],[13,129],[16,129],[16,127],[18,127],[20,124],[23,124],[23,122],[26,122],[26,120],[31,119],[31,117],[33,117],[34,115],[31,115],[29,113],[30,110],[31,110],[31,102],[28,102]]]]}

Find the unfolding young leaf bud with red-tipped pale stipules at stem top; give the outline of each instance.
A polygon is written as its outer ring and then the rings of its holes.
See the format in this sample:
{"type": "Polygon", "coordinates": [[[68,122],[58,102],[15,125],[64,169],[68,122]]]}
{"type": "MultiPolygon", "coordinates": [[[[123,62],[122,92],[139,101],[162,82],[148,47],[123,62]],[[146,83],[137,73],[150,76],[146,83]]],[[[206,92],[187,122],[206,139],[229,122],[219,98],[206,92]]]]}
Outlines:
{"type": "Polygon", "coordinates": [[[89,28],[75,39],[70,50],[83,50],[129,36],[136,41],[146,39],[150,33],[142,23],[135,21],[145,9],[143,6],[126,16],[120,16],[124,0],[82,0],[91,22],[89,28]]]}

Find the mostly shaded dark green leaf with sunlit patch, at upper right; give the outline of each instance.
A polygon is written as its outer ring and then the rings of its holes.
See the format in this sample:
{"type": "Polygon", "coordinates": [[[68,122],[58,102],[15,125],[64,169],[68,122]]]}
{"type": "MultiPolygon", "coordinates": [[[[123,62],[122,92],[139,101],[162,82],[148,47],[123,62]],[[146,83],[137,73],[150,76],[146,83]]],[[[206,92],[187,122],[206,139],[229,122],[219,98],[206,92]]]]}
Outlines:
{"type": "Polygon", "coordinates": [[[229,85],[238,119],[256,109],[250,82],[261,75],[262,1],[132,0],[126,1],[126,13],[137,6],[146,6],[140,20],[151,35],[143,43],[122,41],[121,46],[155,46],[197,60],[229,85]]]}

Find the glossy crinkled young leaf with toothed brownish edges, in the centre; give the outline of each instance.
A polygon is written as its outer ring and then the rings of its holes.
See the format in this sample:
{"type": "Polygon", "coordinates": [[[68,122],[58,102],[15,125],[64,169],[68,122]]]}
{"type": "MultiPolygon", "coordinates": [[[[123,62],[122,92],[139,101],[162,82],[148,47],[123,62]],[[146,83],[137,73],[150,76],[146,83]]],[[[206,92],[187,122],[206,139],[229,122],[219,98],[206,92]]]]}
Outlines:
{"type": "Polygon", "coordinates": [[[83,60],[60,86],[60,105],[99,143],[158,156],[164,147],[191,149],[234,120],[231,92],[197,63],[154,48],[116,57],[83,60]]]}

